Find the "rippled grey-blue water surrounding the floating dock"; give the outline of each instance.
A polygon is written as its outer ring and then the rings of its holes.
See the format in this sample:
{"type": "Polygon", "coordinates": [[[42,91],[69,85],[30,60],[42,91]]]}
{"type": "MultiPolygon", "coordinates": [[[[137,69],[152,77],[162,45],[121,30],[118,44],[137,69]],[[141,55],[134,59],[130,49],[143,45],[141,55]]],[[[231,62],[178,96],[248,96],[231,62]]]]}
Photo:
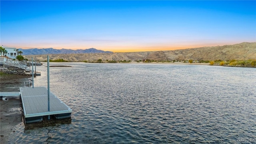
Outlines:
{"type": "MultiPolygon", "coordinates": [[[[47,87],[47,67],[34,86],[47,87]]],[[[71,122],[16,126],[10,143],[236,143],[256,138],[256,68],[50,63],[71,122]]],[[[256,140],[255,140],[256,141],[256,140]]]]}

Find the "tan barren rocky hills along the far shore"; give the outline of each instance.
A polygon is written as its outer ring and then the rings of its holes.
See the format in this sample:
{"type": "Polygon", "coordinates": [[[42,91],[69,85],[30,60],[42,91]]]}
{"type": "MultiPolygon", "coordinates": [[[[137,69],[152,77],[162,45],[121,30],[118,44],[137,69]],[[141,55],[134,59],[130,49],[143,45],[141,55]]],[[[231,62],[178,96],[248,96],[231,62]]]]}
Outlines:
{"type": "MultiPolygon", "coordinates": [[[[24,56],[29,60],[47,60],[47,55],[24,56]]],[[[256,59],[256,42],[243,42],[234,45],[190,48],[184,50],[154,52],[117,52],[93,54],[49,54],[51,60],[64,59],[71,61],[102,60],[250,60],[256,59]]]]}

